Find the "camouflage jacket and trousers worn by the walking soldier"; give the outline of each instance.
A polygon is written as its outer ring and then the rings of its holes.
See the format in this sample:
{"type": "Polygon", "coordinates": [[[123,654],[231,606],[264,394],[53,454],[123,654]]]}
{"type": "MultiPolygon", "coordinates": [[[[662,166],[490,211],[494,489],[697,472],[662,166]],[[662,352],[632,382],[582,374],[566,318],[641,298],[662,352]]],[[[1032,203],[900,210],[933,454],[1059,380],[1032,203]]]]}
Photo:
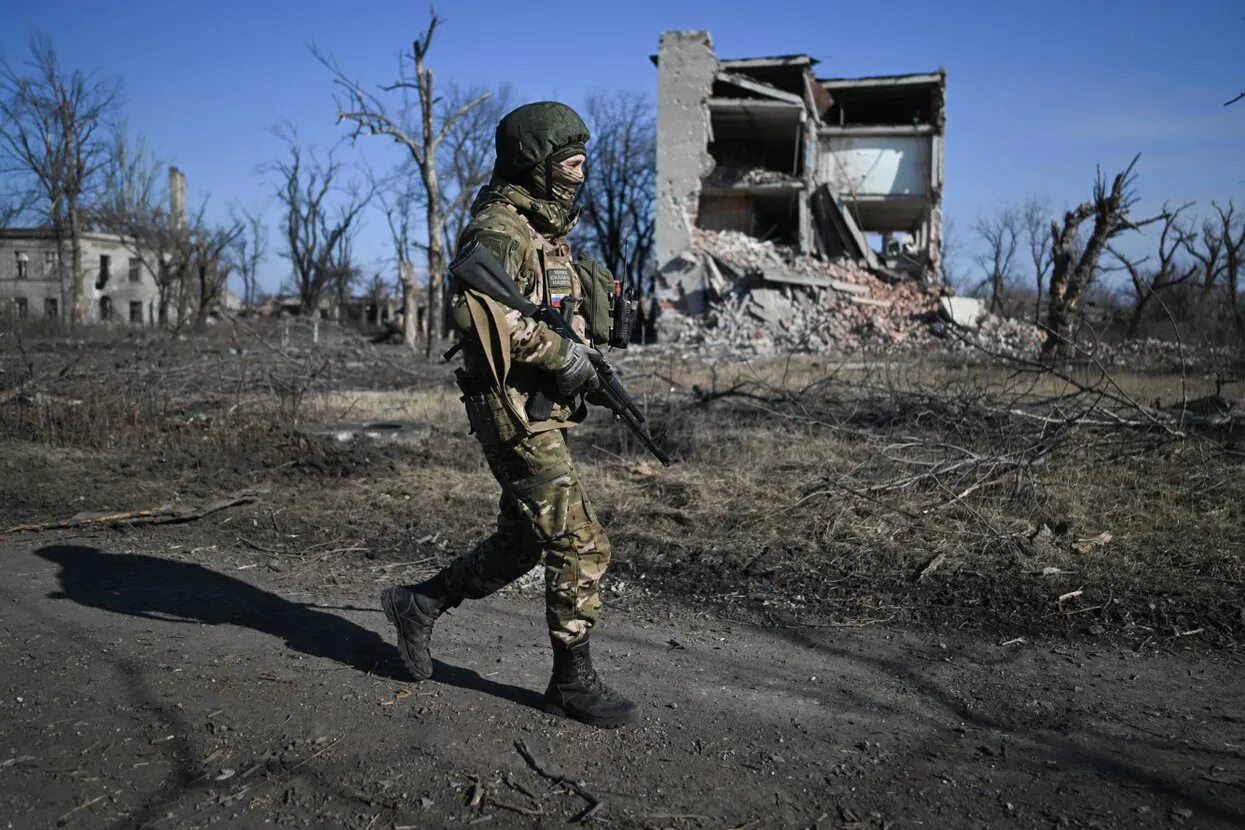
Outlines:
{"type": "MultiPolygon", "coordinates": [[[[478,240],[530,300],[565,309],[583,295],[566,241],[573,226],[561,204],[494,178],[472,205],[459,249],[478,240]]],[[[600,613],[610,543],[566,448],[565,431],[583,421],[584,406],[559,398],[550,373],[566,341],[471,291],[454,294],[453,312],[463,335],[462,399],[502,497],[497,530],[449,566],[447,589],[479,599],[543,561],[549,632],[574,645],[600,613]],[[538,397],[553,406],[533,416],[538,397]]],[[[580,315],[571,325],[588,340],[580,315]]]]}

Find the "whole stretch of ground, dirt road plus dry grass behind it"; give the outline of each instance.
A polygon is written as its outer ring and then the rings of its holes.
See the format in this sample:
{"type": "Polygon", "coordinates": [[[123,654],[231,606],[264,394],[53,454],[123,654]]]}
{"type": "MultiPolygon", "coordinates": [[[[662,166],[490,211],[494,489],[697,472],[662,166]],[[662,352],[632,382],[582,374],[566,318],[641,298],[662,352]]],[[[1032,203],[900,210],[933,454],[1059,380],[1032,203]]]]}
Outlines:
{"type": "Polygon", "coordinates": [[[575,439],[618,549],[594,656],[645,709],[598,732],[539,709],[532,587],[454,611],[436,677],[405,676],[378,591],[497,498],[444,366],[271,342],[0,355],[27,378],[0,402],[0,533],[183,510],[0,538],[0,828],[1245,826],[1234,436],[1099,432],[1021,474],[1016,422],[962,401],[940,426],[893,386],[832,421],[637,362],[629,385],[684,391],[654,402],[680,464],[609,423],[575,439]],[[295,426],[350,418],[426,434],[295,426]],[[990,464],[955,478],[947,442],[990,464]],[[893,487],[913,459],[946,474],[893,487]]]}

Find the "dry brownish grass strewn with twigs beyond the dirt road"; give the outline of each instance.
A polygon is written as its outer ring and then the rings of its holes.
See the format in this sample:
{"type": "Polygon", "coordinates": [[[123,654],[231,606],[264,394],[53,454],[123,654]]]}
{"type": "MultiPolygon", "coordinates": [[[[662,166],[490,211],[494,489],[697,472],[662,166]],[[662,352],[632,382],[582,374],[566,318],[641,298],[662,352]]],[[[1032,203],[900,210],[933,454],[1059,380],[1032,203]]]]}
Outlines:
{"type": "MultiPolygon", "coordinates": [[[[97,360],[67,380],[65,355],[47,350],[0,403],[0,429],[16,438],[6,515],[56,518],[82,493],[101,501],[90,509],[126,509],[266,484],[264,510],[281,518],[266,536],[256,525],[265,545],[342,536],[377,559],[446,561],[488,531],[497,487],[447,367],[403,358],[396,372],[402,352],[355,346],[186,348],[112,353],[118,371],[101,375],[97,360]],[[422,447],[296,431],[341,419],[433,431],[422,447]]],[[[573,432],[620,584],[817,625],[1218,643],[1245,631],[1239,421],[1153,406],[1213,392],[1213,378],[652,352],[625,371],[680,463],[646,459],[603,414],[573,432]]]]}

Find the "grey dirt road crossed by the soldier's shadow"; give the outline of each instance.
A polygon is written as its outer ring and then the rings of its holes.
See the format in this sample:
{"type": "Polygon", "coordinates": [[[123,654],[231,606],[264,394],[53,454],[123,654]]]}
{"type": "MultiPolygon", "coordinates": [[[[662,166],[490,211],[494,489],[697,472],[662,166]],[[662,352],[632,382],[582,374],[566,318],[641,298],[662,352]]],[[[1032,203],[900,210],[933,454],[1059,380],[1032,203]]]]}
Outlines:
{"type": "Polygon", "coordinates": [[[0,828],[1245,826],[1240,656],[622,601],[595,652],[645,718],[596,732],[538,708],[535,595],[412,684],[375,600],[411,569],[176,540],[0,543],[0,828]]]}

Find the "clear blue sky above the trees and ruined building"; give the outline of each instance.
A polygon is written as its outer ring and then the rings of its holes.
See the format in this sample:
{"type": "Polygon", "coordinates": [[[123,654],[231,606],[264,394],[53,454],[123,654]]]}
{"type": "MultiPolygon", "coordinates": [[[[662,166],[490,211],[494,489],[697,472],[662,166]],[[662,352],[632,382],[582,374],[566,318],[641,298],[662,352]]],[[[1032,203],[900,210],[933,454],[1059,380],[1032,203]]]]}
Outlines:
{"type": "MultiPolygon", "coordinates": [[[[289,119],[327,147],[331,80],[308,50],[332,52],[351,75],[380,83],[427,24],[422,2],[215,0],[12,4],[0,54],[51,36],[67,66],[120,76],[131,128],[187,174],[192,204],[212,210],[270,200],[259,166],[281,152],[269,128],[289,119]]],[[[1114,172],[1140,152],[1145,208],[1164,199],[1245,200],[1245,2],[1012,0],[629,0],[522,4],[442,0],[430,65],[439,82],[509,82],[515,100],[580,103],[594,90],[652,95],[649,56],[662,31],[705,29],[721,57],[804,52],[822,76],[946,67],[945,213],[969,226],[1002,200],[1043,197],[1062,207],[1088,195],[1097,164],[1114,172]]],[[[377,166],[380,139],[360,149],[377,166]]],[[[346,151],[347,157],[352,151],[346,151]]],[[[285,273],[271,256],[265,284],[285,273]]],[[[383,218],[356,244],[365,264],[387,255],[383,218]]]]}

